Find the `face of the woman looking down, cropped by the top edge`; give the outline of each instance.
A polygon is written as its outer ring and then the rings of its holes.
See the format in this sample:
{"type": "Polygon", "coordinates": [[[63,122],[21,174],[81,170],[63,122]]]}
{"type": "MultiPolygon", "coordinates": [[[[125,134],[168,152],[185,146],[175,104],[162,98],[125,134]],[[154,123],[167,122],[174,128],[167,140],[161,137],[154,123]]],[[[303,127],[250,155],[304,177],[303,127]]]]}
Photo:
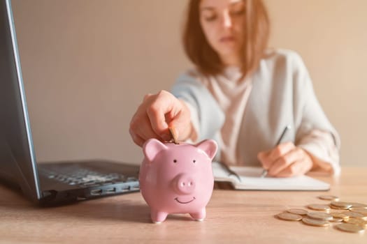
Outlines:
{"type": "Polygon", "coordinates": [[[199,13],[209,45],[225,65],[239,65],[245,3],[242,0],[201,0],[199,13]]]}

